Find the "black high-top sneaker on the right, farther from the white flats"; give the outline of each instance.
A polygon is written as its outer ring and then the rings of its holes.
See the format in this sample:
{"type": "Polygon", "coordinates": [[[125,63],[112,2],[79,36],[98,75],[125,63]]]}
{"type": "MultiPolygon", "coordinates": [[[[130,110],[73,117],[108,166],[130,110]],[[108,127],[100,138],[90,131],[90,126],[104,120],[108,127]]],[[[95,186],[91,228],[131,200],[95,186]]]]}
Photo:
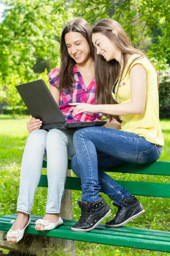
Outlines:
{"type": "Polygon", "coordinates": [[[122,227],[127,222],[133,220],[144,212],[142,204],[135,196],[122,198],[123,207],[113,202],[113,205],[118,207],[115,218],[107,221],[106,227],[122,227]]]}

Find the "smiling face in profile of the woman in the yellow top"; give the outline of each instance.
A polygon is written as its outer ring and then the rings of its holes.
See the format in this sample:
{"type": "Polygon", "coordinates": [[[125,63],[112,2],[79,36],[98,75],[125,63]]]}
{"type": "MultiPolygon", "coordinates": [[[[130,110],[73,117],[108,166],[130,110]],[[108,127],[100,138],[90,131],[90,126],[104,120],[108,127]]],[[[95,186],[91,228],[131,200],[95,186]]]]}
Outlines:
{"type": "Polygon", "coordinates": [[[111,40],[109,40],[105,35],[102,35],[101,33],[94,33],[92,35],[92,41],[96,47],[97,54],[102,55],[106,61],[116,59],[116,56],[118,54],[120,55],[120,51],[116,49],[113,42],[111,42],[111,40]]]}

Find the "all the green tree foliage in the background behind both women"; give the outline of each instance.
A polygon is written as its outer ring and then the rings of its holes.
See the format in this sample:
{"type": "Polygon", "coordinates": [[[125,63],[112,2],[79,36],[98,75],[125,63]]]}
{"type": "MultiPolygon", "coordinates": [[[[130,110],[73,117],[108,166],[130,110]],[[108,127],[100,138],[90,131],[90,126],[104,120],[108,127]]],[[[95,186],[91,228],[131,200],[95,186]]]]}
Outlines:
{"type": "MultiPolygon", "coordinates": [[[[24,113],[26,109],[15,85],[40,79],[41,72],[47,81],[49,70],[59,67],[62,28],[74,17],[84,17],[92,26],[101,19],[113,18],[123,26],[136,48],[158,61],[157,70],[167,70],[166,63],[170,63],[169,0],[0,0],[0,3],[6,6],[0,23],[0,104],[10,105],[13,114],[24,113]]],[[[168,76],[161,80],[161,116],[165,112],[170,116],[169,84],[168,76]]]]}

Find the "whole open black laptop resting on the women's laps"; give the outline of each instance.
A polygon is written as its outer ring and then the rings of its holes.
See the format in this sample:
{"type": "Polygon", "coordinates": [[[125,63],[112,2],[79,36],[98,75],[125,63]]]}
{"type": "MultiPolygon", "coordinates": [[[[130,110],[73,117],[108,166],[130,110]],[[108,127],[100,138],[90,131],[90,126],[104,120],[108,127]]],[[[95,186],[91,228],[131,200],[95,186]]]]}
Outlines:
{"type": "Polygon", "coordinates": [[[106,121],[66,122],[45,81],[40,79],[16,86],[31,116],[42,121],[41,129],[67,129],[105,125],[106,121]]]}

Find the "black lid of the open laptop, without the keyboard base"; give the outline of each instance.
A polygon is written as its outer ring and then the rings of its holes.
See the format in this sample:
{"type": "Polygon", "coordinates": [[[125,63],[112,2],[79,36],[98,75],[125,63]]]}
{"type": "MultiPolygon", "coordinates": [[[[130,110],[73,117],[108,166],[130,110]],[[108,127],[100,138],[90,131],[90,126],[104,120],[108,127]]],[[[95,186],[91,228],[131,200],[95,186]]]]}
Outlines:
{"type": "Polygon", "coordinates": [[[43,125],[66,122],[44,80],[20,84],[16,88],[31,116],[42,120],[43,125]]]}

